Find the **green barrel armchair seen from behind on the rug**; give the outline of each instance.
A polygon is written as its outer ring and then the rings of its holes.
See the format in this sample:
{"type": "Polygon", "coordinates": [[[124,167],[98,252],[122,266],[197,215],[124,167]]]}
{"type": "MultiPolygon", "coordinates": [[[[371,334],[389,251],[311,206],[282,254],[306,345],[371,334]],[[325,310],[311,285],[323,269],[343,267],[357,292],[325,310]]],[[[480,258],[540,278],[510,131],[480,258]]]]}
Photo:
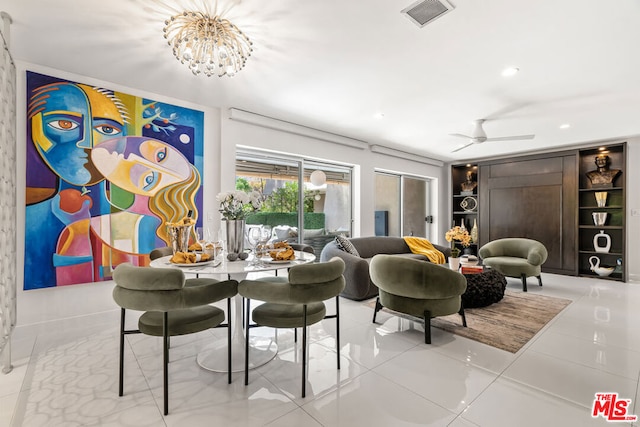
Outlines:
{"type": "Polygon", "coordinates": [[[371,280],[380,288],[373,323],[383,307],[424,320],[424,342],[431,344],[431,318],[459,313],[466,327],[461,295],[467,279],[457,271],[430,262],[393,255],[371,260],[371,280]]]}

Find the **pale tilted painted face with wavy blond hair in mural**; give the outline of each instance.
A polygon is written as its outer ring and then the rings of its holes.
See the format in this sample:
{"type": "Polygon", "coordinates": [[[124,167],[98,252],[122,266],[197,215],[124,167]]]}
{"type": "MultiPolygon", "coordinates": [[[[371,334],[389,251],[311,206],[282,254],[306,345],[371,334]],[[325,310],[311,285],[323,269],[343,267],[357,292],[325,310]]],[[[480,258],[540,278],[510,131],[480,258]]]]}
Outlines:
{"type": "Polygon", "coordinates": [[[94,147],[93,163],[110,182],[135,194],[154,196],[191,174],[189,161],[162,141],[128,136],[94,147]]]}

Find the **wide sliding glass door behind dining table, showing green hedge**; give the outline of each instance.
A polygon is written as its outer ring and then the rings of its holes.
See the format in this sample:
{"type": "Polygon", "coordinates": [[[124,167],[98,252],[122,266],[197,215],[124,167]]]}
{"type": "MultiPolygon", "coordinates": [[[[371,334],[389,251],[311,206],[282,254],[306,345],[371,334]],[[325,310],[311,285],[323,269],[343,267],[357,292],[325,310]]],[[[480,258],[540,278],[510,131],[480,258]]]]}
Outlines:
{"type": "Polygon", "coordinates": [[[319,257],[337,234],[351,235],[352,169],[348,166],[256,151],[236,156],[236,188],[264,200],[248,224],[269,225],[273,238],[313,246],[319,257]]]}

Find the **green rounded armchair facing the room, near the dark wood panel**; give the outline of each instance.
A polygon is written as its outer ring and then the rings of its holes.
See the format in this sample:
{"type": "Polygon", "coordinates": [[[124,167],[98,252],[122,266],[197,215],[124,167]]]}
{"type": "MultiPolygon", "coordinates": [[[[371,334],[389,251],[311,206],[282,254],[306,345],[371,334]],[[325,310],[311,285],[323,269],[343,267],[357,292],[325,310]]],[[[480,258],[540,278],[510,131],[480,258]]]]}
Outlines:
{"type": "Polygon", "coordinates": [[[542,286],[541,265],[547,260],[547,248],[537,240],[511,237],[497,239],[478,250],[482,263],[507,277],[522,279],[522,291],[527,292],[527,277],[534,276],[542,286]]]}

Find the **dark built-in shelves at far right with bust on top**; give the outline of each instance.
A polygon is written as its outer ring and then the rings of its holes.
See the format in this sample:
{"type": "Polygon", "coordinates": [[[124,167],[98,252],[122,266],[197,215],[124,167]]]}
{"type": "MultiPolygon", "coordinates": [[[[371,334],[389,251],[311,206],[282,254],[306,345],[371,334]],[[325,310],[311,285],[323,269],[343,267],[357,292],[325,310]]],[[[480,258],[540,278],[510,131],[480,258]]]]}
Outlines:
{"type": "Polygon", "coordinates": [[[578,274],[580,276],[626,281],[625,150],[625,144],[579,150],[578,274]],[[596,158],[604,156],[609,158],[607,168],[619,170],[620,173],[610,184],[594,183],[587,173],[596,170],[596,158]],[[606,197],[604,206],[598,206],[596,193],[606,193],[606,196],[601,194],[601,197],[606,197]],[[595,223],[594,214],[598,213],[606,214],[603,225],[595,223]],[[608,237],[600,234],[601,231],[608,237]],[[596,235],[599,237],[596,238],[596,235]],[[603,251],[602,248],[609,239],[610,248],[608,251],[603,251]],[[601,267],[614,267],[615,270],[607,277],[598,276],[591,270],[592,257],[597,257],[601,267]]]}

